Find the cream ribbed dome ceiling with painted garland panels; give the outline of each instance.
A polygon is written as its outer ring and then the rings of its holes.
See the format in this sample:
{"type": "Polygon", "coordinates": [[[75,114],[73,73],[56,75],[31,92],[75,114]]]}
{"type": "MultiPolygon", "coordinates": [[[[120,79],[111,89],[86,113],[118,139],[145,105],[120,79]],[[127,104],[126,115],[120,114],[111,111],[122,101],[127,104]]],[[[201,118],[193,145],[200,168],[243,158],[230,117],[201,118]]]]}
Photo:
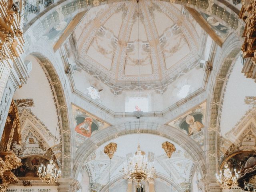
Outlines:
{"type": "Polygon", "coordinates": [[[113,84],[176,80],[198,64],[202,34],[183,6],[154,0],[91,8],[74,30],[81,68],[113,84]]]}

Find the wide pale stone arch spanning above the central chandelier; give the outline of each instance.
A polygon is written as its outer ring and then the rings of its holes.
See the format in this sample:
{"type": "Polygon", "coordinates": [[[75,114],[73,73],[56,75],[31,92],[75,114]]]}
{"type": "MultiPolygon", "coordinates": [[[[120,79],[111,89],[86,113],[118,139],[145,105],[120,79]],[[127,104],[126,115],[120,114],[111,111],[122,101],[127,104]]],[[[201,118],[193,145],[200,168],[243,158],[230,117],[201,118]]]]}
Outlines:
{"type": "MultiPolygon", "coordinates": [[[[140,129],[142,134],[154,134],[166,139],[172,140],[180,145],[194,160],[196,166],[200,170],[202,177],[206,177],[206,162],[202,148],[184,132],[176,128],[172,128],[166,125],[156,124],[154,122],[140,122],[140,129]]],[[[86,159],[90,156],[94,150],[106,142],[124,136],[126,134],[138,133],[138,122],[126,122],[124,124],[110,126],[105,128],[101,132],[97,132],[91,138],[88,138],[77,150],[76,158],[74,159],[74,177],[77,178],[79,166],[82,166],[82,162],[86,162],[86,159]]]]}

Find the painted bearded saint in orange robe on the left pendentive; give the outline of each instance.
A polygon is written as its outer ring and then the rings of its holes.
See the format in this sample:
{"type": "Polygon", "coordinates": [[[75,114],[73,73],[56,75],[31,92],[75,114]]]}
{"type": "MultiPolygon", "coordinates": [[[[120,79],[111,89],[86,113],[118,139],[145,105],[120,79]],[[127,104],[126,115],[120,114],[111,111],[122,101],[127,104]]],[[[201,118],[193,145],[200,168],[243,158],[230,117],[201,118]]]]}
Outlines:
{"type": "Polygon", "coordinates": [[[76,128],[75,131],[83,136],[90,137],[92,132],[97,131],[98,126],[93,122],[90,117],[76,117],[76,128]]]}

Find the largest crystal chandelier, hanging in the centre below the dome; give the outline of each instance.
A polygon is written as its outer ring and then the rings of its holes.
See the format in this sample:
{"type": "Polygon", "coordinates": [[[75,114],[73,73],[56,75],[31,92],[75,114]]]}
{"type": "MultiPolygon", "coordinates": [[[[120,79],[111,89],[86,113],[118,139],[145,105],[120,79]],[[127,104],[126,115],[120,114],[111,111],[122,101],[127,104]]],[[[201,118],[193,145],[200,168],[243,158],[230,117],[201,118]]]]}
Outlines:
{"type": "Polygon", "coordinates": [[[134,156],[129,159],[127,168],[120,170],[120,172],[124,172],[125,179],[132,179],[136,182],[137,188],[140,188],[143,180],[148,181],[150,178],[155,178],[155,171],[153,163],[150,165],[145,152],[140,150],[140,145],[138,145],[138,150],[134,156]]]}

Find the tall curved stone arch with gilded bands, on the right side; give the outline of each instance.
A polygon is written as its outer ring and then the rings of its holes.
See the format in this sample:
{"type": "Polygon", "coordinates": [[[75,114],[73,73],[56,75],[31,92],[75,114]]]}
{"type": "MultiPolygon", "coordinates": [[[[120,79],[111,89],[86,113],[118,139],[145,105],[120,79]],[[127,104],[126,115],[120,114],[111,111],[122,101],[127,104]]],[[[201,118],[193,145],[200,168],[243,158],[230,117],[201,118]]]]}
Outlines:
{"type": "Polygon", "coordinates": [[[219,125],[218,116],[222,108],[222,99],[224,92],[226,90],[226,84],[229,77],[230,69],[232,64],[237,59],[237,56],[241,50],[241,42],[238,40],[234,34],[228,36],[226,41],[222,46],[222,54],[217,62],[214,64],[216,66],[216,71],[212,71],[212,76],[214,82],[210,85],[211,98],[209,100],[209,117],[208,117],[208,127],[206,132],[208,133],[206,137],[207,146],[207,162],[208,162],[208,175],[215,178],[215,173],[218,170],[218,160],[220,159],[220,138],[219,138],[219,125]],[[213,88],[212,88],[213,86],[213,88]]]}

